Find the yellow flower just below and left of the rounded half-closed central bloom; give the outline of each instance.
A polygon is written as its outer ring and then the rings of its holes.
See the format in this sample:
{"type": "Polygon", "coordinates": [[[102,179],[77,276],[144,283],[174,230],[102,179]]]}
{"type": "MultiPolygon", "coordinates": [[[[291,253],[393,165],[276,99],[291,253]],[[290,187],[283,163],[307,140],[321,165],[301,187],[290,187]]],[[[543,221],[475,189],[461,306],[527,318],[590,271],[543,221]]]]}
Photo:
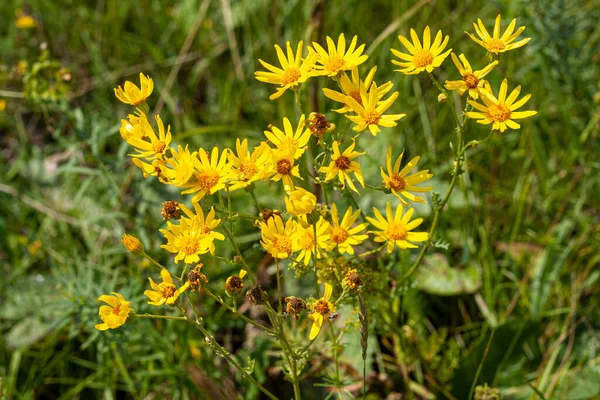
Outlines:
{"type": "Polygon", "coordinates": [[[285,224],[279,215],[273,215],[260,226],[262,240],[260,244],[274,258],[288,258],[297,251],[294,221],[288,219],[285,224]]]}

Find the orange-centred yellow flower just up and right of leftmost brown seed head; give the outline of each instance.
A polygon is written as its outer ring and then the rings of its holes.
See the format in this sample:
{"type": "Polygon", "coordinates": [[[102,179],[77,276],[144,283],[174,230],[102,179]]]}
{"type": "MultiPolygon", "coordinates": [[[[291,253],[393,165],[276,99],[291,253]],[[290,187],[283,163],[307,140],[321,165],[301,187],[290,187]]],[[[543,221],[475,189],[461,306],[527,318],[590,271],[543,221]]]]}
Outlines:
{"type": "Polygon", "coordinates": [[[195,172],[188,183],[181,185],[189,188],[181,194],[196,193],[192,201],[199,201],[207,194],[213,194],[225,188],[225,182],[231,177],[231,168],[227,164],[229,149],[224,149],[219,158],[219,149],[214,147],[210,159],[205,150],[198,150],[198,157],[194,159],[195,172]]]}

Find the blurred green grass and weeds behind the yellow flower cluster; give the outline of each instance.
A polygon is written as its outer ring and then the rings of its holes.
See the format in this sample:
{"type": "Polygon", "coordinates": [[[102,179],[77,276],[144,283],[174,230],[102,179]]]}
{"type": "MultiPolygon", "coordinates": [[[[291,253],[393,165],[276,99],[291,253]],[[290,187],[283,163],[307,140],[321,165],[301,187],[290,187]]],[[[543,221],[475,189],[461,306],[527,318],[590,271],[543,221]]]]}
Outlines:
{"type": "MultiPolygon", "coordinates": [[[[517,18],[532,40],[504,53],[489,80],[493,87],[503,77],[510,88],[522,85],[532,94],[526,109],[538,115],[469,153],[442,215],[441,258],[429,266],[446,259],[458,271],[474,266],[474,288],[452,289],[444,271],[431,268],[393,299],[372,295],[369,396],[466,399],[494,328],[480,383],[508,399],[600,398],[597,0],[2,1],[0,398],[258,397],[187,326],[135,321],[107,333],[94,329],[100,294],[118,290],[136,310],[150,310],[142,295],[150,269],[119,240],[124,232],[137,235],[168,263],[159,249],[160,204],[181,199],[129,161],[118,130],[130,109],[113,87],[149,74],[151,110],[160,110],[177,144],[223,148],[236,137],[258,144],[269,124],[296,118],[291,93],[269,101],[273,86],[254,79],[258,58],[275,62],[273,44],[286,40],[356,34],[370,56],[361,72],[377,65],[377,82],[391,80],[400,92],[391,110],[407,114],[376,138],[361,136],[367,182],[379,184],[378,165],[392,145],[395,154],[406,148],[421,155],[421,168],[432,170],[443,193],[452,116],[426,75],[392,71],[389,48],[400,48],[398,34],[429,25],[480,69],[485,50],[463,32],[473,31],[478,17],[489,29],[498,13],[503,29],[517,18]],[[19,29],[19,13],[36,26],[19,29]]],[[[434,74],[440,81],[458,76],[450,58],[434,74]]],[[[303,103],[342,126],[320,93],[333,83],[313,80],[303,103]]],[[[482,139],[488,129],[472,124],[467,138],[482,139]]],[[[259,200],[281,208],[271,187],[259,188],[259,200]]],[[[246,197],[236,195],[238,209],[252,207],[246,197]]],[[[369,210],[384,204],[369,193],[360,202],[369,210]]],[[[429,212],[418,208],[424,217],[429,212]]],[[[238,235],[258,264],[257,230],[239,226],[238,235]]],[[[392,272],[384,285],[395,284],[410,257],[389,261],[397,265],[386,266],[392,272]]],[[[208,264],[203,272],[220,287],[232,271],[208,264]]],[[[208,300],[202,309],[226,347],[256,360],[256,378],[289,398],[267,340],[247,335],[241,321],[208,300]]],[[[356,357],[348,349],[349,366],[358,365],[356,357]]],[[[307,398],[327,395],[313,386],[319,382],[307,374],[307,398]]]]}

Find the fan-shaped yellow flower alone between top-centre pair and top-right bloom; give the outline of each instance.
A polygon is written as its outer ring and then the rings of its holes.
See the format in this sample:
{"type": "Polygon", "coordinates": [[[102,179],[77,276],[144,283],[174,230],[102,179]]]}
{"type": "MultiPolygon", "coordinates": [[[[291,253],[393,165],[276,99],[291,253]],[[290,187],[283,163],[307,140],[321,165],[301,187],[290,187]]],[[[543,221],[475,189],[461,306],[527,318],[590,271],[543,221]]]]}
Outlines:
{"type": "Polygon", "coordinates": [[[423,44],[421,44],[417,32],[412,28],[410,30],[410,37],[412,38],[412,43],[404,36],[398,35],[400,43],[406,47],[410,54],[402,53],[396,49],[390,49],[392,54],[402,60],[392,60],[393,64],[402,67],[402,69],[396,69],[395,71],[402,72],[405,75],[418,74],[423,71],[433,71],[434,68],[442,65],[442,62],[452,51],[452,49],[450,49],[445,53],[442,53],[448,44],[448,40],[450,40],[449,36],[446,35],[442,42],[442,31],[438,31],[433,43],[431,43],[431,31],[429,30],[429,26],[426,26],[423,31],[423,44]]]}

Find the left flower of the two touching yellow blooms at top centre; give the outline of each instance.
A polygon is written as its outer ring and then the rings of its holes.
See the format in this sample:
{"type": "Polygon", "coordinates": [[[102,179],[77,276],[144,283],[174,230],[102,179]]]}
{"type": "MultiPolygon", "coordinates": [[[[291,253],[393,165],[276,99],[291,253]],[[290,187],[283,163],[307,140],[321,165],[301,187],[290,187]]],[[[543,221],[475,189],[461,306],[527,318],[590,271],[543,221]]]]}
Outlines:
{"type": "Polygon", "coordinates": [[[281,64],[281,68],[275,67],[263,60],[258,60],[267,71],[256,71],[254,75],[261,82],[278,85],[277,92],[269,96],[270,100],[275,100],[280,97],[283,92],[288,89],[297,90],[301,83],[306,82],[308,78],[313,76],[313,68],[317,61],[317,54],[312,48],[308,48],[308,55],[302,59],[303,42],[298,43],[296,54],[292,51],[290,42],[286,42],[287,58],[281,50],[281,47],[275,45],[277,58],[281,64]]]}

